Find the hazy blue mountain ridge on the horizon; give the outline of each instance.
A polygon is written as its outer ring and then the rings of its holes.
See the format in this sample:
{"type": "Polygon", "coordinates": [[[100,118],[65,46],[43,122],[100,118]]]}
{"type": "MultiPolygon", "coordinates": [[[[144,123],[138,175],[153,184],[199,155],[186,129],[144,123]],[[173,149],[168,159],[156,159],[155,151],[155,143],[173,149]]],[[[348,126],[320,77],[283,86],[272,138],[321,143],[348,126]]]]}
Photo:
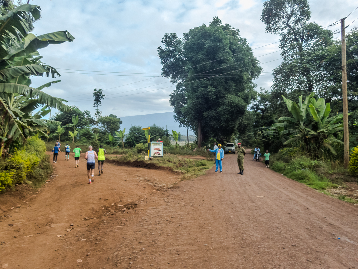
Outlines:
{"type": "MultiPolygon", "coordinates": [[[[174,112],[164,112],[164,113],[153,113],[146,115],[136,115],[136,116],[127,116],[120,117],[122,120],[121,130],[126,128],[126,133],[129,132],[129,128],[131,126],[142,126],[149,127],[153,124],[161,126],[165,129],[165,127],[169,130],[171,134],[171,130],[180,132],[182,135],[187,135],[187,128],[179,128],[179,124],[174,120],[174,112]]],[[[189,129],[189,136],[193,135],[193,132],[189,129]]]]}

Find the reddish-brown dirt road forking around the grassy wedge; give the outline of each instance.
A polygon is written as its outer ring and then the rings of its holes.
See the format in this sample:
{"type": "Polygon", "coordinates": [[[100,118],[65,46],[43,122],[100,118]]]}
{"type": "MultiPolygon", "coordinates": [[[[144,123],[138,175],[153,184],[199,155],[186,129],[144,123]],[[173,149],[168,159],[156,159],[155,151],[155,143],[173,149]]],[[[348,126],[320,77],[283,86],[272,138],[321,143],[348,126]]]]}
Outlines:
{"type": "Polygon", "coordinates": [[[111,165],[89,185],[60,161],[52,185],[1,218],[0,266],[358,268],[358,207],[251,160],[237,175],[236,155],[225,155],[223,174],[161,192],[179,176],[111,165]],[[138,205],[111,212],[124,199],[138,205]]]}

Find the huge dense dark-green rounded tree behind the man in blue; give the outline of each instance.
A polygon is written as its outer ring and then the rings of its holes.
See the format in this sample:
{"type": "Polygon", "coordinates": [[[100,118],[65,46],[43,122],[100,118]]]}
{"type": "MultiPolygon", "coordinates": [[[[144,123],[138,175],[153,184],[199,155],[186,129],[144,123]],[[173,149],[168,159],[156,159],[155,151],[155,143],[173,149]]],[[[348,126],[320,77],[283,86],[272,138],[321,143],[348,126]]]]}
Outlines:
{"type": "Polygon", "coordinates": [[[175,120],[196,133],[199,147],[209,137],[230,137],[255,96],[253,80],[261,72],[246,39],[215,17],[183,38],[165,34],[162,43],[162,75],[176,84],[170,94],[175,120]]]}

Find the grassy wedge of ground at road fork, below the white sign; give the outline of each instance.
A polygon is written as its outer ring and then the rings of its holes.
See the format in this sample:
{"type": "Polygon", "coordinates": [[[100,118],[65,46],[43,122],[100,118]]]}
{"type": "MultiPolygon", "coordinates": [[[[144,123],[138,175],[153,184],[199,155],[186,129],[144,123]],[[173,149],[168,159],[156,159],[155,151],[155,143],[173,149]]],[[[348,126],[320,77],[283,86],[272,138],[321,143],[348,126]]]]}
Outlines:
{"type": "Polygon", "coordinates": [[[192,160],[172,154],[154,158],[153,160],[144,160],[143,155],[137,154],[126,154],[120,157],[108,157],[107,159],[142,167],[146,167],[145,165],[148,165],[148,167],[165,167],[168,170],[182,174],[181,180],[192,179],[203,175],[215,164],[212,158],[208,158],[207,160],[192,160]]]}

